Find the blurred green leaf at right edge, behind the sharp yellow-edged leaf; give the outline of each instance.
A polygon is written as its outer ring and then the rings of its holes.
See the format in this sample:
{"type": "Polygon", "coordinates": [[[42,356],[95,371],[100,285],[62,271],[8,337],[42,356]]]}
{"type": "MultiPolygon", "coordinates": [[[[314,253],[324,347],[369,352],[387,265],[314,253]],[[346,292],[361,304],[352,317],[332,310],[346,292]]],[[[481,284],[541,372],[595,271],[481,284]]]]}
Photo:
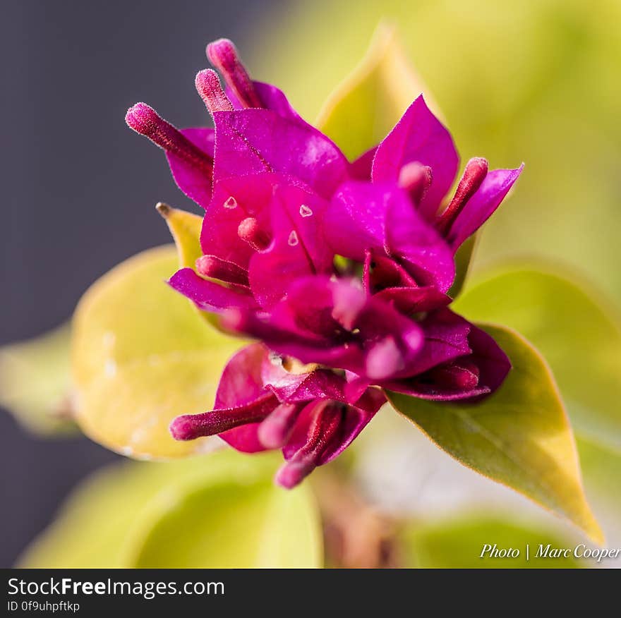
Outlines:
{"type": "Polygon", "coordinates": [[[550,363],[576,431],[621,449],[621,320],[591,286],[512,269],[472,286],[454,307],[532,341],[550,363]]]}

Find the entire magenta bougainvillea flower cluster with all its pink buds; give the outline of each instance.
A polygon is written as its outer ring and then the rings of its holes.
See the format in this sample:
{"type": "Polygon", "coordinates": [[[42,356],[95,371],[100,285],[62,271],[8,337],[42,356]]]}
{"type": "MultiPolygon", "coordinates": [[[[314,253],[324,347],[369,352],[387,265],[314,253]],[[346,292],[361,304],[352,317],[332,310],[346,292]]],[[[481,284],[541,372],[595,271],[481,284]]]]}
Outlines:
{"type": "Polygon", "coordinates": [[[346,448],[385,402],[382,389],[477,401],[510,361],[453,313],[459,246],[500,205],[519,169],[459,157],[422,97],[355,162],[275,86],[248,76],[227,40],[222,73],[195,85],[215,130],[177,130],[136,104],[131,128],[167,154],[205,209],[200,257],[169,283],[231,332],[258,339],[220,380],[215,408],[179,416],[177,440],[219,435],[243,452],[280,448],[285,487],[346,448]],[[339,259],[337,259],[337,257],[339,259]]]}

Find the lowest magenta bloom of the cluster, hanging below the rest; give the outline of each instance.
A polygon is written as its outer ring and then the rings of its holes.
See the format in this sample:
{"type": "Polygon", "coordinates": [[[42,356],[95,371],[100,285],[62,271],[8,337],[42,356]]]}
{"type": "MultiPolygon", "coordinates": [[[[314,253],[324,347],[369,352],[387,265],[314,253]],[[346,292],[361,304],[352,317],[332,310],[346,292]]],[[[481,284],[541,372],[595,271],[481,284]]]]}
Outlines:
{"type": "Polygon", "coordinates": [[[327,369],[292,372],[263,344],[231,358],[222,373],[215,409],[179,416],[171,425],[177,440],[219,434],[232,447],[253,453],[282,448],[287,463],[277,482],[294,487],[308,473],[339,455],[363,430],[385,397],[367,389],[355,400],[344,377],[327,369]]]}

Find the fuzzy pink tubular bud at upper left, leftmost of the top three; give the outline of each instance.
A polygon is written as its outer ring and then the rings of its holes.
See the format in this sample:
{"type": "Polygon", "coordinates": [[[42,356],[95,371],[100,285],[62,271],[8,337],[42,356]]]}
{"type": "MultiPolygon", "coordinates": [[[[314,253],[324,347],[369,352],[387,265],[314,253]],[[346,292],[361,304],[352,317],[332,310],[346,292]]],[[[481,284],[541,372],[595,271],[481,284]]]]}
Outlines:
{"type": "Polygon", "coordinates": [[[146,103],[136,103],[127,110],[125,121],[130,128],[166,152],[176,154],[194,167],[213,170],[213,159],[198,146],[191,143],[179,129],[157,115],[157,111],[146,103]]]}

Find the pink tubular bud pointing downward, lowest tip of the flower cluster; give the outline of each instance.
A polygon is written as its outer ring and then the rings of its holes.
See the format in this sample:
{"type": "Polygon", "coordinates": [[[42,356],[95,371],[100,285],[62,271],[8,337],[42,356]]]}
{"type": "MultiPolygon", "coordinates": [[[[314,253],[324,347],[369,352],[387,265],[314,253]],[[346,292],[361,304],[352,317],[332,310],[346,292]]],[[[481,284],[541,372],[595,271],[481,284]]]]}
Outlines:
{"type": "Polygon", "coordinates": [[[318,411],[308,427],[306,443],[276,474],[276,482],[286,489],[298,485],[320,465],[323,453],[341,427],[345,408],[343,404],[322,401],[317,407],[318,411]]]}

